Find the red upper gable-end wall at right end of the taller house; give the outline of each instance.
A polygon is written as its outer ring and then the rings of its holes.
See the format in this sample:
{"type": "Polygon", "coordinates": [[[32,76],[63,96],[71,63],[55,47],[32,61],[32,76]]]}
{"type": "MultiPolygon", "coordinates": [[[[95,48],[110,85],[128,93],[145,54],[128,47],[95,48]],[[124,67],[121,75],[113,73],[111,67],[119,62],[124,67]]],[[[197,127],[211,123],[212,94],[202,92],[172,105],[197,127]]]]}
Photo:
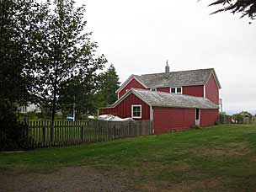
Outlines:
{"type": "Polygon", "coordinates": [[[205,97],[210,99],[213,103],[219,104],[219,88],[213,74],[211,74],[210,79],[205,85],[205,97]]]}

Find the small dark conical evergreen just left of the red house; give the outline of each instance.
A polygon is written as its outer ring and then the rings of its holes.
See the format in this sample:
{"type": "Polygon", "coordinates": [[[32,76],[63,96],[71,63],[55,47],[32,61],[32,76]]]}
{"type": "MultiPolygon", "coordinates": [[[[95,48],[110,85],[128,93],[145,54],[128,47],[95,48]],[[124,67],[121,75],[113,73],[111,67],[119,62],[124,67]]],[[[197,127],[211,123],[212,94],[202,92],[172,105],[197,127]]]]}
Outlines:
{"type": "Polygon", "coordinates": [[[117,100],[115,91],[120,87],[119,77],[115,67],[110,65],[106,72],[99,76],[99,91],[95,94],[95,107],[100,108],[114,104],[117,100]]]}

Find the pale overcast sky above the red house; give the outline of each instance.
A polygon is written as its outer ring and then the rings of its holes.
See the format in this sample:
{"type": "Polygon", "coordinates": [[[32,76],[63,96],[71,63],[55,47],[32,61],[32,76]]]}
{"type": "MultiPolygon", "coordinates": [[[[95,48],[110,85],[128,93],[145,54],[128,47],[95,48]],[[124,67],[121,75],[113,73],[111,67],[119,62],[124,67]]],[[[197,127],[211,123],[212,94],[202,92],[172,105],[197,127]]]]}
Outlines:
{"type": "Polygon", "coordinates": [[[256,110],[256,21],[208,8],[211,1],[77,0],[88,30],[120,82],[131,74],[214,67],[224,110],[256,110]]]}

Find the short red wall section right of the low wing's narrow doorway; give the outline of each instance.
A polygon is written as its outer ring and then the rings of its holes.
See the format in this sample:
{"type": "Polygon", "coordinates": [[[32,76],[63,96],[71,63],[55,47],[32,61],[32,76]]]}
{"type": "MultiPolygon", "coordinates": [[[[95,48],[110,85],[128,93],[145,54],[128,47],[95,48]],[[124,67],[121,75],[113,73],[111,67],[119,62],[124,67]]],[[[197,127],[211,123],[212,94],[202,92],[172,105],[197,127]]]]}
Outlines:
{"type": "Polygon", "coordinates": [[[215,125],[219,118],[219,109],[200,109],[200,126],[215,125]]]}

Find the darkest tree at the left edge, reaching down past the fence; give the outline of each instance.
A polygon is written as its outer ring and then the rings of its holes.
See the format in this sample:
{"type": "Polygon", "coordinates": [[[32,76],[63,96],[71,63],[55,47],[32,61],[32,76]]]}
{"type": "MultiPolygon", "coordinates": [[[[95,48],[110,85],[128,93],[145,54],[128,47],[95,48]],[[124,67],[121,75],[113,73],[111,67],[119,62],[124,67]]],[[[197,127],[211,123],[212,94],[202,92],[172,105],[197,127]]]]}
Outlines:
{"type": "Polygon", "coordinates": [[[33,0],[0,0],[0,134],[6,136],[0,151],[22,147],[24,126],[15,110],[32,100],[35,79],[29,71],[34,68],[33,32],[41,6],[33,0]]]}

